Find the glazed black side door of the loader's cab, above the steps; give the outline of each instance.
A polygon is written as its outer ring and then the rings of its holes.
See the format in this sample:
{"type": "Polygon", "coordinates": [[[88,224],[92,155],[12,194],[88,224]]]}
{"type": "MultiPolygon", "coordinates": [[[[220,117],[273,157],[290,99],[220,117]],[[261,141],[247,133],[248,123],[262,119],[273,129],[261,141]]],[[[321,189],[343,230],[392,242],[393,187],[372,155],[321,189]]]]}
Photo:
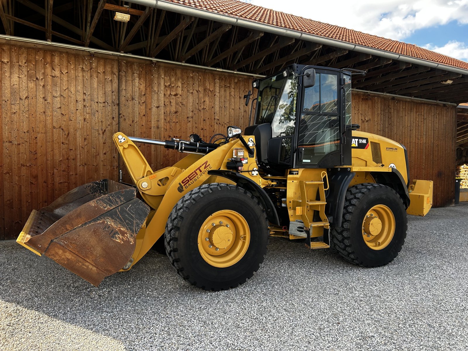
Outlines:
{"type": "MultiPolygon", "coordinates": [[[[307,68],[307,67],[306,67],[307,68]]],[[[344,126],[340,116],[341,73],[315,70],[315,85],[301,90],[297,123],[296,168],[332,168],[342,165],[344,126]]]]}

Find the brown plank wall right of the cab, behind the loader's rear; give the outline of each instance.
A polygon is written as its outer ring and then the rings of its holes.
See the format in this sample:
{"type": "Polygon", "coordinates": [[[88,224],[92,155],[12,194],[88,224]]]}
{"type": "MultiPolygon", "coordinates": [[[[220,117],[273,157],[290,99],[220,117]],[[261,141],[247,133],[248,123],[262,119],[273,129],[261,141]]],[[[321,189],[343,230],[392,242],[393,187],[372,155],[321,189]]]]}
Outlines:
{"type": "Polygon", "coordinates": [[[456,108],[353,92],[353,123],[402,143],[410,179],[434,182],[433,206],[452,206],[455,188],[456,108]]]}

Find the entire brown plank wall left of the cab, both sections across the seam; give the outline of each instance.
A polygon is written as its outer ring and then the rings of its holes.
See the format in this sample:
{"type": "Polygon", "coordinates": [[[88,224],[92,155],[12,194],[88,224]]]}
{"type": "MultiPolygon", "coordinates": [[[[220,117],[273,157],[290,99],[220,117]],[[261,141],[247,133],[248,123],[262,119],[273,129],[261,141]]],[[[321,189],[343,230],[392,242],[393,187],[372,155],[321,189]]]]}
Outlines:
{"type": "MultiPolygon", "coordinates": [[[[117,180],[119,126],[130,136],[209,139],[247,126],[250,87],[245,75],[0,44],[0,240],[68,190],[117,180]]],[[[182,155],[142,151],[154,169],[182,155]]]]}

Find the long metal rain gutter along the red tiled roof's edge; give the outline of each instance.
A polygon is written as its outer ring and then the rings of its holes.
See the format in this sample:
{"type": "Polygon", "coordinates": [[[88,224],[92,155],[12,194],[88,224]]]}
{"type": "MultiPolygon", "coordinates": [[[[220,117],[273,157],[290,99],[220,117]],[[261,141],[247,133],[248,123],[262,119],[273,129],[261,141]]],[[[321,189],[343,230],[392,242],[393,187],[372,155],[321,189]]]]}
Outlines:
{"type": "Polygon", "coordinates": [[[202,10],[202,9],[198,9],[195,7],[180,5],[180,4],[176,4],[173,2],[169,2],[169,1],[164,1],[164,0],[125,0],[125,1],[132,2],[134,4],[143,5],[143,6],[155,7],[155,8],[159,8],[161,10],[166,10],[170,12],[176,12],[176,13],[183,14],[183,15],[204,18],[206,20],[227,23],[233,26],[239,26],[239,27],[248,28],[251,30],[261,30],[261,31],[269,32],[269,33],[279,35],[279,36],[290,37],[290,38],[305,40],[308,42],[319,43],[319,44],[324,44],[324,45],[329,45],[329,46],[335,46],[338,48],[347,49],[351,51],[358,51],[358,52],[362,52],[366,54],[377,55],[377,56],[388,58],[388,59],[400,60],[403,62],[409,62],[409,63],[416,64],[416,65],[422,65],[422,66],[431,67],[431,68],[438,68],[438,69],[442,69],[442,70],[449,71],[449,72],[468,75],[467,69],[463,69],[459,67],[448,66],[448,65],[444,65],[441,63],[424,60],[424,59],[417,59],[411,56],[401,55],[401,54],[397,54],[397,53],[385,51],[385,50],[380,50],[380,49],[374,49],[374,48],[364,46],[364,45],[346,43],[346,42],[342,42],[336,39],[320,37],[320,36],[316,36],[313,34],[303,33],[297,30],[285,29],[285,28],[273,26],[270,24],[244,20],[241,18],[218,14],[218,13],[211,12],[208,10],[202,10]]]}

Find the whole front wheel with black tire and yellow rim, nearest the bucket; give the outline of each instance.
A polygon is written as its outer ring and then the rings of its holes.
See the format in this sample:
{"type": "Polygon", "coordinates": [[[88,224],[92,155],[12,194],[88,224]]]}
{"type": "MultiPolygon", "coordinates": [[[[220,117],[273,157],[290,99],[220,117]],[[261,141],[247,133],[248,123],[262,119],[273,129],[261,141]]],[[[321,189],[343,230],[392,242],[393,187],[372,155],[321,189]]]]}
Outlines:
{"type": "Polygon", "coordinates": [[[262,205],[249,191],[224,183],[188,192],[166,224],[170,262],[182,278],[204,290],[227,290],[252,277],[263,263],[268,240],[262,205]]]}

